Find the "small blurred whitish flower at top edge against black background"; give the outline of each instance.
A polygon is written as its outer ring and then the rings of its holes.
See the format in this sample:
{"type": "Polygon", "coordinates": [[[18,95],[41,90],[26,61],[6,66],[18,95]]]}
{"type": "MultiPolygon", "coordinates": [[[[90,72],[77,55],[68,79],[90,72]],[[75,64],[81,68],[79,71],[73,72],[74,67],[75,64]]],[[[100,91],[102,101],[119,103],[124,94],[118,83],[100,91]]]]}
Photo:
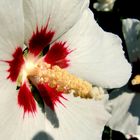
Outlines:
{"type": "Polygon", "coordinates": [[[93,4],[93,7],[97,11],[108,12],[108,11],[111,11],[113,9],[115,1],[116,0],[97,0],[97,2],[95,2],[93,4]]]}

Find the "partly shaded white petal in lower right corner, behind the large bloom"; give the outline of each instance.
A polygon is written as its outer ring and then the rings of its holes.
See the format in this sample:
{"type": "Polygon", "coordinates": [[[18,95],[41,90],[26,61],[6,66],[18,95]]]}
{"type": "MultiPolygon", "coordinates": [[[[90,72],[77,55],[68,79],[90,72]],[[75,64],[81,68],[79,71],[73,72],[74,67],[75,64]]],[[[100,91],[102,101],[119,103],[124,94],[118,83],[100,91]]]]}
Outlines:
{"type": "Polygon", "coordinates": [[[112,117],[108,124],[125,134],[140,134],[140,95],[119,89],[111,93],[106,108],[112,117]]]}

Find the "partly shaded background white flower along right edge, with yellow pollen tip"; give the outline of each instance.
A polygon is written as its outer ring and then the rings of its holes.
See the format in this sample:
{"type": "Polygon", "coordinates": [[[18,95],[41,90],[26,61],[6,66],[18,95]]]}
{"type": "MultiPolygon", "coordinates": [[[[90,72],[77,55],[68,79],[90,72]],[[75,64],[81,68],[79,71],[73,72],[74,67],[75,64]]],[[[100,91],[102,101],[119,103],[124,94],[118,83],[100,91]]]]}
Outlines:
{"type": "Polygon", "coordinates": [[[140,22],[137,19],[124,19],[122,22],[129,59],[133,64],[133,80],[126,87],[110,94],[106,106],[112,117],[107,125],[128,136],[135,136],[140,134],[140,71],[137,61],[140,58],[140,22]]]}

